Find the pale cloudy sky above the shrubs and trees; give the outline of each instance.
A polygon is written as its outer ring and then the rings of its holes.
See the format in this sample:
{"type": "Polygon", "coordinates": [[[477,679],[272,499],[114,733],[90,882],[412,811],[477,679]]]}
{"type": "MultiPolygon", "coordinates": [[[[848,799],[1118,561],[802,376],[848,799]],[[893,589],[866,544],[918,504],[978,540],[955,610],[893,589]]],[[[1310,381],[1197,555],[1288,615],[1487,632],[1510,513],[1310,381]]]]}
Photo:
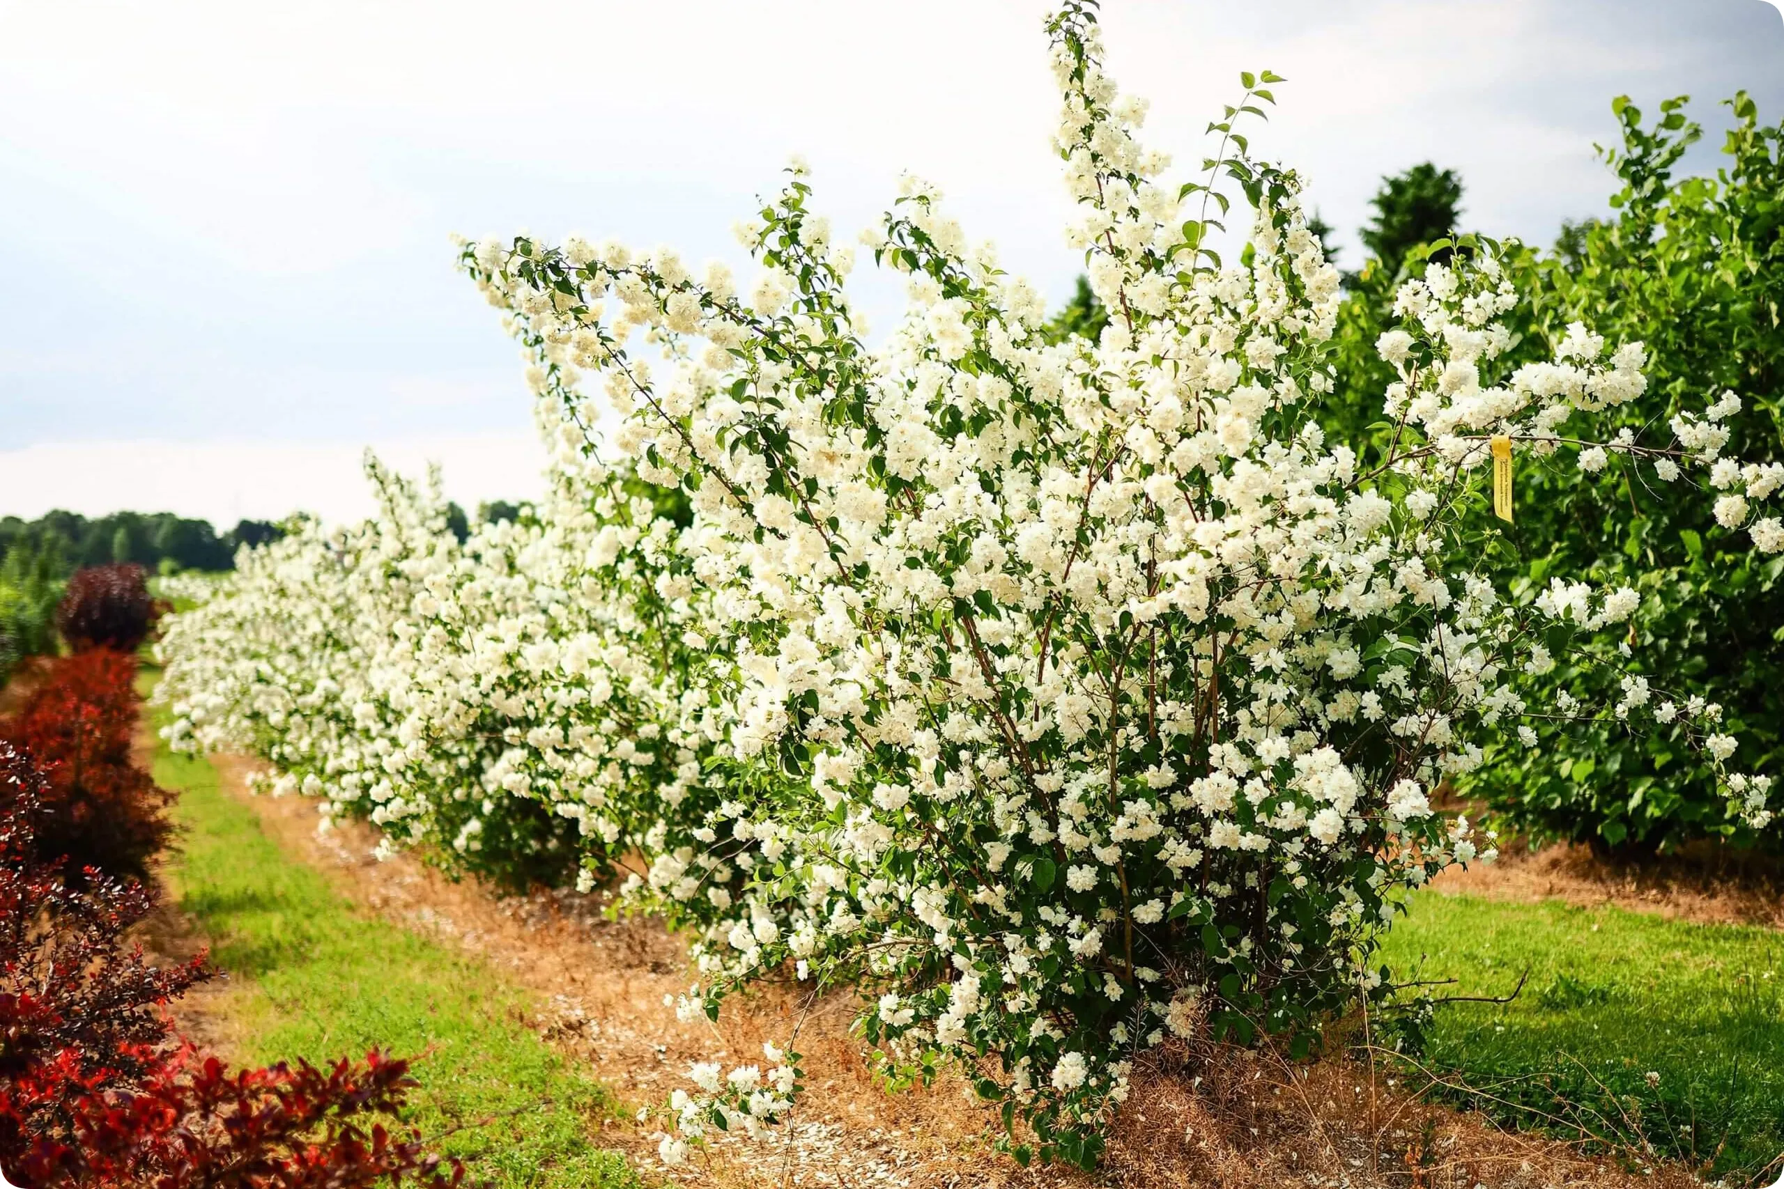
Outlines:
{"type": "MultiPolygon", "coordinates": [[[[450,235],[582,232],[742,267],[789,153],[838,239],[901,169],[1054,301],[1079,260],[1033,0],[0,0],[0,515],[364,510],[368,446],[475,504],[533,490],[516,348],[450,235]]],[[[1604,210],[1609,100],[1745,87],[1763,0],[1104,0],[1110,66],[1179,162],[1240,70],[1254,150],[1359,264],[1381,175],[1458,169],[1463,221],[1549,242],[1604,210]]],[[[858,278],[869,278],[862,269],[858,278]]],[[[876,326],[894,291],[863,285],[876,326]]]]}

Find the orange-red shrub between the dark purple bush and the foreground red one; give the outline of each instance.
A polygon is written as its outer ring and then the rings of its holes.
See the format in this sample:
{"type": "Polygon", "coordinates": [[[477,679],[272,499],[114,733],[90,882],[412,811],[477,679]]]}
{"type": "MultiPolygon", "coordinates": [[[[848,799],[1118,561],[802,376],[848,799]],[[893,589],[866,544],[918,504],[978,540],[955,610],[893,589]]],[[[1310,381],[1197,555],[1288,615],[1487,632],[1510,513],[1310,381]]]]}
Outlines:
{"type": "Polygon", "coordinates": [[[70,881],[89,866],[141,879],[173,836],[171,795],[130,754],[139,706],[136,661],[95,649],[50,661],[18,715],[0,724],[0,740],[48,779],[37,845],[68,859],[70,881]]]}

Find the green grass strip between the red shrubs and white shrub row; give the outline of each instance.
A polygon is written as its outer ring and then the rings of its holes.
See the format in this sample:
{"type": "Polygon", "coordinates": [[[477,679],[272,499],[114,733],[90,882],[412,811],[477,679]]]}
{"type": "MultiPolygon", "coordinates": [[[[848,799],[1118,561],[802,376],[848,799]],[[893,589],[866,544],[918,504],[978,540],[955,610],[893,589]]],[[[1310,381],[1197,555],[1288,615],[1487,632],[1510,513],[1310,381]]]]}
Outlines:
{"type": "Polygon", "coordinates": [[[528,1030],[523,991],[464,954],[355,911],[218,788],[207,761],[159,745],[153,770],[157,784],[180,791],[180,907],[237,984],[223,998],[248,1037],[237,1059],[321,1062],[371,1046],[419,1055],[409,1118],[430,1136],[466,1128],[441,1148],[475,1157],[473,1180],[637,1184],[619,1155],[589,1139],[610,1100],[528,1030]]]}

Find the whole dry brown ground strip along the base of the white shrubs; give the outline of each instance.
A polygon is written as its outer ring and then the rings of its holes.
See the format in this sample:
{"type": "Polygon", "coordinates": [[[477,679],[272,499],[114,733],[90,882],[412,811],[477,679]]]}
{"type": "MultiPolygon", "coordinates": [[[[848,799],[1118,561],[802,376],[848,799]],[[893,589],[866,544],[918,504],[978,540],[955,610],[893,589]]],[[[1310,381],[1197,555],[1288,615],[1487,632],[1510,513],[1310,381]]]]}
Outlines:
{"type": "MultiPolygon", "coordinates": [[[[398,856],[371,857],[376,836],[350,824],[316,832],[316,804],[252,795],[250,761],[214,758],[223,788],[250,804],[289,854],[330,875],[355,904],[448,939],[505,970],[544,1004],[541,1036],[608,1086],[632,1112],[685,1087],[692,1061],[760,1059],[783,1041],[801,1002],[774,989],[731,1002],[719,1025],[681,1023],[665,996],[692,980],[685,945],[649,920],[610,922],[599,893],[498,898],[398,856]]],[[[608,1121],[601,1143],[624,1152],[648,1180],[714,1185],[838,1189],[979,1189],[1122,1185],[1261,1189],[1263,1185],[1418,1185],[1420,1189],[1541,1189],[1565,1185],[1695,1185],[1682,1169],[1623,1169],[1577,1148],[1506,1134],[1474,1114],[1433,1107],[1390,1075],[1347,1061],[1290,1068],[1268,1054],[1220,1050],[1213,1061],[1140,1070],[1095,1177],[1020,1169],[992,1152],[995,1118],[965,1084],[887,1095],[849,1034],[846,996],[806,1018],[810,1091],[794,1125],[767,1144],[721,1137],[710,1155],[665,1169],[658,1123],[608,1121]],[[1411,1164],[1408,1162],[1411,1160],[1411,1164]],[[1413,1166],[1420,1173],[1413,1175],[1413,1166]]]]}

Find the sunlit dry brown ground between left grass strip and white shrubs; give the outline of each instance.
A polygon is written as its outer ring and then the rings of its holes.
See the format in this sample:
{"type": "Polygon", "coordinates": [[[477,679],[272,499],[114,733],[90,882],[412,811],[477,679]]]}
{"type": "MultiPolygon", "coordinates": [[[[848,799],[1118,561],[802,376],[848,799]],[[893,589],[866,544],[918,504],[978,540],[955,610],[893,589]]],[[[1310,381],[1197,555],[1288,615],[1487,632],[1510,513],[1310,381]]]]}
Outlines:
{"type": "MultiPolygon", "coordinates": [[[[685,991],[685,945],[657,922],[610,922],[596,893],[537,893],[496,898],[473,881],[453,882],[398,856],[371,857],[376,836],[360,824],[316,832],[316,802],[255,797],[246,791],[252,765],[214,758],[223,788],[252,804],[287,852],[325,870],[357,904],[396,923],[480,954],[546,1005],[537,1027],[558,1048],[608,1086],[628,1112],[689,1087],[694,1061],[749,1064],[764,1041],[785,1041],[803,1000],[765,991],[726,1011],[719,1027],[678,1021],[664,998],[685,991]]],[[[662,1169],[660,1125],[617,1123],[603,1143],[640,1168],[673,1180],[760,1185],[765,1164],[776,1178],[801,1185],[1026,1185],[1067,1184],[1058,1175],[1015,1168],[990,1152],[994,1119],[965,1098],[954,1078],[933,1087],[887,1095],[874,1082],[865,1050],[849,1036],[851,1004],[830,998],[806,1016],[799,1052],[806,1054],[812,1093],[790,1128],[792,1143],[764,1150],[721,1139],[705,1164],[662,1169]]],[[[699,1157],[696,1157],[699,1160],[699,1157]]]]}

